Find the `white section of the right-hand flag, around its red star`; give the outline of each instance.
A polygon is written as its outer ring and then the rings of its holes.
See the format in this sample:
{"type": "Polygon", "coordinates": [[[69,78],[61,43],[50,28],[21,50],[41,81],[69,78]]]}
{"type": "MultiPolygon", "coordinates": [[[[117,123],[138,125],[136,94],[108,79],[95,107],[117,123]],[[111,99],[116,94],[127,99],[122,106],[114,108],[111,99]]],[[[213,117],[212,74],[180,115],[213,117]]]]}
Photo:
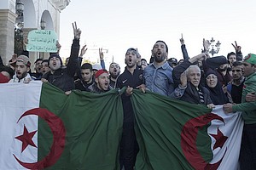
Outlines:
{"type": "Polygon", "coordinates": [[[224,156],[218,169],[238,169],[238,158],[241,147],[241,133],[243,128],[243,121],[241,120],[241,112],[225,114],[223,111],[223,105],[217,105],[213,109],[212,113],[221,116],[224,122],[213,120],[212,125],[208,127],[208,134],[218,134],[218,129],[224,136],[228,137],[222,148],[216,148],[213,150],[216,140],[212,139],[212,152],[213,159],[211,164],[221,160],[224,156]]]}

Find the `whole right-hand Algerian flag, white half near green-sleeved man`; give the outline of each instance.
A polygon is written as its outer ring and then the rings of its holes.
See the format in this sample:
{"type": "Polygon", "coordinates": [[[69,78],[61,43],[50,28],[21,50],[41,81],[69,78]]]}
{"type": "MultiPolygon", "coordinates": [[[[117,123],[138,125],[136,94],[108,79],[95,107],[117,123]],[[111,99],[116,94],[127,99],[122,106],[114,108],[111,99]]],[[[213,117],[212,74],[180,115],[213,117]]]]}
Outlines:
{"type": "Polygon", "coordinates": [[[139,91],[131,96],[139,144],[137,170],[237,169],[241,113],[139,91]]]}

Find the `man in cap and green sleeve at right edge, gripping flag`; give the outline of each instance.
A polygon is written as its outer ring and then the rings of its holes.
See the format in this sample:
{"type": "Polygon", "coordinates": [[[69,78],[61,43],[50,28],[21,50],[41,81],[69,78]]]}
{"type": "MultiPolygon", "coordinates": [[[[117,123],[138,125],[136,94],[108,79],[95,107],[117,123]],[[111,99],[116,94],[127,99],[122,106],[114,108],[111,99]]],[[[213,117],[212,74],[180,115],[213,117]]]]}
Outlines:
{"type": "Polygon", "coordinates": [[[242,62],[243,76],[246,77],[242,89],[241,104],[224,104],[226,113],[242,111],[244,127],[241,137],[240,168],[256,169],[256,101],[247,101],[247,94],[256,92],[256,54],[247,54],[242,62]]]}

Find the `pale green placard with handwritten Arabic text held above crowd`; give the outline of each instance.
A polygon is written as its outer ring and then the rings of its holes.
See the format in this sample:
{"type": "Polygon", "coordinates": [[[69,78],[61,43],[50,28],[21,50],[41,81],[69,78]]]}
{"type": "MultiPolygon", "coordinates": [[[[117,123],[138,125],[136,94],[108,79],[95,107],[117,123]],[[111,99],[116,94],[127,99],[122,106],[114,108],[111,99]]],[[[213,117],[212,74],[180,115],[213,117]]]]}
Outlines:
{"type": "Polygon", "coordinates": [[[57,34],[52,30],[32,30],[27,36],[28,44],[26,44],[27,51],[37,52],[57,52],[56,42],[57,34]]]}

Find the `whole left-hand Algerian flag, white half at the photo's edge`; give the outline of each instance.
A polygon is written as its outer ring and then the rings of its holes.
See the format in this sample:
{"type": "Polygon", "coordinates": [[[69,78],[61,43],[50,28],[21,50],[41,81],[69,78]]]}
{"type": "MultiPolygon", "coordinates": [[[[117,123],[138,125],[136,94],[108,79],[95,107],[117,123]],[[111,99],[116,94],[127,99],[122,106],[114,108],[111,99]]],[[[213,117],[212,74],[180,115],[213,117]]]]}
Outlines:
{"type": "Polygon", "coordinates": [[[0,84],[0,169],[119,169],[117,90],[70,95],[41,82],[0,84]]]}

